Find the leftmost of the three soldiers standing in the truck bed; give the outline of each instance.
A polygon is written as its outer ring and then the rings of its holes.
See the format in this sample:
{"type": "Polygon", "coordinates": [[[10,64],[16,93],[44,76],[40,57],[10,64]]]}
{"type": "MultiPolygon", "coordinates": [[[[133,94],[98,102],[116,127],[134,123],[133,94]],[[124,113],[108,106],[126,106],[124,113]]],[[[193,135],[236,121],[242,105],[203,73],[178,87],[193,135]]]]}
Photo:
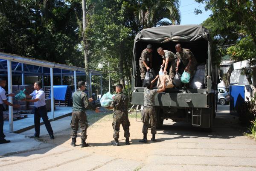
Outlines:
{"type": "Polygon", "coordinates": [[[141,52],[140,60],[140,79],[144,81],[147,70],[152,67],[152,45],[148,44],[147,48],[141,52]]]}

